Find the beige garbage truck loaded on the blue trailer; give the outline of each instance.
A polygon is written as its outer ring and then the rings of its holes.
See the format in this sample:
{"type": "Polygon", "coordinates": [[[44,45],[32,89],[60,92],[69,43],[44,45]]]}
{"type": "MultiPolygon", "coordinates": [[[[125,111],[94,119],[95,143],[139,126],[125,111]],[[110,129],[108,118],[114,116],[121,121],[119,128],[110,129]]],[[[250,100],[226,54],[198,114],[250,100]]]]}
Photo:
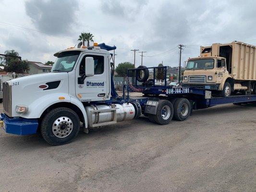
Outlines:
{"type": "Polygon", "coordinates": [[[256,46],[238,41],[201,46],[200,56],[187,61],[183,84],[221,96],[256,94],[256,46]]]}

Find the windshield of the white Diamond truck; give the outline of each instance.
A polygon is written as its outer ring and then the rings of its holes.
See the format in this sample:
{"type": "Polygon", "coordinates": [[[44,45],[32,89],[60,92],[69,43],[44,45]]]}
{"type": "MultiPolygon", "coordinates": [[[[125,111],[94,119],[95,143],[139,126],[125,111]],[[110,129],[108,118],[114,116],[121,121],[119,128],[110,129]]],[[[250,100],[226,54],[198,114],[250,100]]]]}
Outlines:
{"type": "Polygon", "coordinates": [[[51,72],[71,72],[81,51],[66,51],[58,55],[51,72]]]}

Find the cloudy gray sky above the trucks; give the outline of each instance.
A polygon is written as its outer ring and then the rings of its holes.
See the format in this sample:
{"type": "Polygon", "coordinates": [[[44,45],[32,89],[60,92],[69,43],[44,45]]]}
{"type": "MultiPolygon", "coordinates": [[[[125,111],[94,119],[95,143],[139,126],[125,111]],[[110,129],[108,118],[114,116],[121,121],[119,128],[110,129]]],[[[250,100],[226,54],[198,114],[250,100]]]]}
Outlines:
{"type": "Polygon", "coordinates": [[[81,32],[116,45],[116,64],[133,62],[136,48],[147,51],[148,67],[162,60],[177,66],[178,44],[185,45],[182,62],[198,56],[200,45],[256,45],[256,1],[0,0],[0,53],[14,49],[23,59],[54,61],[54,52],[77,45],[81,32]]]}

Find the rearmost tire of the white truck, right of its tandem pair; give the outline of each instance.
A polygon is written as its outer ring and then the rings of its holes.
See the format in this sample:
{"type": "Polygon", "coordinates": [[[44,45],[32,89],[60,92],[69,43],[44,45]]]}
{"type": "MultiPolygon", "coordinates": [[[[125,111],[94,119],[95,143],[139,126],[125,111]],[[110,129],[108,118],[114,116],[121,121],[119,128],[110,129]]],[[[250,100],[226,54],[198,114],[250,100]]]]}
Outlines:
{"type": "Polygon", "coordinates": [[[188,99],[178,98],[173,106],[173,119],[186,120],[191,112],[191,105],[188,99]]]}

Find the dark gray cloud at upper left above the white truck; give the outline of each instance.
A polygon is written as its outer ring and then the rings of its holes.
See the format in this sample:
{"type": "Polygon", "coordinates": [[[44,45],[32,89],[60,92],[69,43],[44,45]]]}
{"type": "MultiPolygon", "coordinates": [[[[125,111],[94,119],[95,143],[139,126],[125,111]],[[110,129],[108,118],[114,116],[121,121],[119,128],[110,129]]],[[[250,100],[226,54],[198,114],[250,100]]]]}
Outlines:
{"type": "Polygon", "coordinates": [[[25,10],[38,30],[50,34],[70,34],[77,24],[77,0],[30,0],[25,10]]]}

